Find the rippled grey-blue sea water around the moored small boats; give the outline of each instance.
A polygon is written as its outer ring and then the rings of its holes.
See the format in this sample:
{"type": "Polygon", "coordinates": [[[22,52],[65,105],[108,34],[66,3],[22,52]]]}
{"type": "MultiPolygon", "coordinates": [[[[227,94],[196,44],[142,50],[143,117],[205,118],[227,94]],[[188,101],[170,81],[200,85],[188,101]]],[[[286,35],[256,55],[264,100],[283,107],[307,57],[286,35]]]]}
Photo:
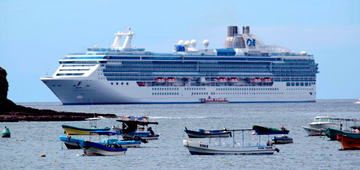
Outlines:
{"type": "MultiPolygon", "coordinates": [[[[61,103],[18,103],[38,109],[56,111],[112,113],[118,116],[149,116],[158,122],[158,140],[129,148],[124,156],[77,156],[82,150],[67,150],[59,140],[61,124],[89,127],[78,122],[16,122],[0,123],[7,126],[11,138],[0,138],[0,169],[124,169],[124,170],[238,170],[238,169],[301,169],[301,170],[358,170],[360,151],[339,151],[340,143],[328,138],[308,137],[301,126],[315,116],[360,118],[360,104],[356,100],[317,100],[314,103],[248,103],[248,104],[157,104],[157,105],[86,105],[63,106],[61,103]],[[293,144],[276,145],[280,150],[273,155],[191,156],[182,146],[188,139],[184,127],[191,130],[251,129],[253,125],[290,130],[293,144]],[[15,141],[15,139],[18,139],[15,141]],[[22,139],[22,141],[21,141],[22,139]],[[46,157],[40,157],[46,154],[46,157]],[[55,163],[52,163],[55,161],[55,163]]],[[[98,127],[116,125],[116,119],[102,119],[98,127]]],[[[360,125],[360,122],[359,124],[360,125]]],[[[153,127],[152,129],[155,129],[153,127]]],[[[256,145],[258,136],[244,133],[244,146],[256,145]]],[[[270,136],[271,138],[272,136],[270,136]]],[[[87,140],[88,137],[80,138],[87,140]]],[[[120,137],[121,138],[121,137],[120,137]]],[[[267,142],[260,137],[260,144],[267,142]]],[[[93,141],[93,137],[91,137],[93,141]]],[[[208,139],[201,140],[208,143],[208,139]]],[[[211,139],[211,143],[219,143],[211,139]]],[[[221,145],[232,146],[232,138],[222,138],[221,145]]],[[[242,145],[241,134],[235,133],[235,145],[242,145]]]]}

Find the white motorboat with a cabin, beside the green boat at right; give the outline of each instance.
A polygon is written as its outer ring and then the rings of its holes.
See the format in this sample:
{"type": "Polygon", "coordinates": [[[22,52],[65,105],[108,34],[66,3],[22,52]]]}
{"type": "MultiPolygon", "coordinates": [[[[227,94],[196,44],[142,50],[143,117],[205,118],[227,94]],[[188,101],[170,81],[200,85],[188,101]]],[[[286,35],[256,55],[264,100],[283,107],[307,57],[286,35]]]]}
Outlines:
{"type": "MultiPolygon", "coordinates": [[[[339,120],[339,119],[336,119],[339,120]]],[[[309,127],[302,126],[308,136],[326,135],[326,129],[340,129],[341,124],[334,123],[333,119],[328,116],[316,116],[315,119],[309,123],[309,127]]]]}

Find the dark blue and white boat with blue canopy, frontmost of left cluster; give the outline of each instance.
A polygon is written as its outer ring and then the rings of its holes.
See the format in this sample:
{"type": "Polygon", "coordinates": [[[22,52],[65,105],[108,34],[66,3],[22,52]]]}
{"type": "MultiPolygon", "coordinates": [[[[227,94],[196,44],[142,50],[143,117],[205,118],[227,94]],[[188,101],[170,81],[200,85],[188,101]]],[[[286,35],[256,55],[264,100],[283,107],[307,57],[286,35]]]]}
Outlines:
{"type": "MultiPolygon", "coordinates": [[[[117,132],[108,132],[108,131],[94,131],[90,134],[95,135],[120,135],[117,132]]],[[[90,141],[82,141],[80,147],[83,150],[83,155],[86,156],[111,156],[111,155],[124,155],[127,151],[127,148],[122,148],[117,143],[112,143],[112,145],[107,145],[105,143],[98,144],[90,141]]]]}

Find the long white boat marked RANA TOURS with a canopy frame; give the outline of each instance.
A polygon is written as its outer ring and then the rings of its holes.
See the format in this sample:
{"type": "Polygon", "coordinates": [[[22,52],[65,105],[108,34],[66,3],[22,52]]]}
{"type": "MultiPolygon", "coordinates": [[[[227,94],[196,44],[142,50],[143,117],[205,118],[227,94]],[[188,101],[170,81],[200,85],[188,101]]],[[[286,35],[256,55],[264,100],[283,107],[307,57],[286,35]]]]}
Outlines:
{"type": "MultiPolygon", "coordinates": [[[[251,131],[248,130],[228,130],[228,131],[251,131]]],[[[234,135],[232,136],[234,140],[234,135]]],[[[182,145],[187,148],[191,155],[263,155],[268,154],[272,155],[274,151],[279,152],[275,146],[271,144],[269,146],[265,145],[256,145],[256,146],[243,146],[242,138],[242,147],[221,147],[214,146],[212,144],[204,144],[201,141],[192,142],[188,140],[183,140],[182,145]]]]}

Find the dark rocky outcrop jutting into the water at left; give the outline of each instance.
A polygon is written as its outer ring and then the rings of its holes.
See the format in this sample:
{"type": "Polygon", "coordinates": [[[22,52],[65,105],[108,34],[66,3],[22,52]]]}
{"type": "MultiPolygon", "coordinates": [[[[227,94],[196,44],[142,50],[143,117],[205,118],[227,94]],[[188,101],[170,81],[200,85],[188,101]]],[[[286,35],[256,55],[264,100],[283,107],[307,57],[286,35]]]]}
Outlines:
{"type": "Polygon", "coordinates": [[[0,67],[0,122],[19,121],[83,121],[86,118],[102,116],[116,118],[113,114],[57,112],[16,105],[7,99],[8,83],[6,71],[0,67]]]}

